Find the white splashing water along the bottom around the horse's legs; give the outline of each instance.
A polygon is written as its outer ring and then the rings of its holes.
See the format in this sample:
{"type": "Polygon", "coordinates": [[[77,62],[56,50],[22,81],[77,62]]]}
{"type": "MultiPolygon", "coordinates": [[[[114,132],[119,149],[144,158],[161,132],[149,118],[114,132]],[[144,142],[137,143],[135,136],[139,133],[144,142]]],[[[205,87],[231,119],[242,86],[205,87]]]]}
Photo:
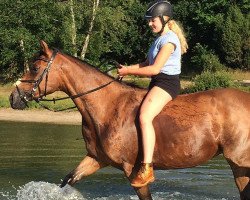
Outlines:
{"type": "MultiPolygon", "coordinates": [[[[107,194],[107,191],[97,191],[93,194],[93,191],[90,193],[78,191],[77,189],[66,185],[63,188],[60,188],[54,183],[48,182],[29,182],[23,186],[15,188],[13,192],[1,192],[0,191],[0,200],[139,200],[136,195],[132,195],[130,192],[119,192],[107,194]],[[99,192],[99,193],[98,193],[99,192]]],[[[189,194],[185,192],[178,191],[157,191],[153,194],[153,199],[155,200],[235,200],[237,198],[214,198],[206,197],[197,194],[189,194]]]]}

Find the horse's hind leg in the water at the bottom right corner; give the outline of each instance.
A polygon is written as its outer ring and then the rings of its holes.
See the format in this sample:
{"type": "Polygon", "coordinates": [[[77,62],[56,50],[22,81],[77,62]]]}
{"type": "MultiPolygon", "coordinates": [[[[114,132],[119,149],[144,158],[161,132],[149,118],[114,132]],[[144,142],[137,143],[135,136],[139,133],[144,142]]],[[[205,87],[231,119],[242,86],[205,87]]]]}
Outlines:
{"type": "Polygon", "coordinates": [[[239,167],[232,162],[229,162],[229,164],[240,192],[240,199],[250,200],[250,168],[239,167]]]}

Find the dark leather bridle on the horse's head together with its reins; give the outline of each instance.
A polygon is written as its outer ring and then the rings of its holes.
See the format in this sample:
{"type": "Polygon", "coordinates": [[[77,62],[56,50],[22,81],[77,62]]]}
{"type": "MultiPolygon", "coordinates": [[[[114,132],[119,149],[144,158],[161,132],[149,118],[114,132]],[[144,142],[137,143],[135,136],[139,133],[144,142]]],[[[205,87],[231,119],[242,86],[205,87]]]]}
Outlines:
{"type": "MultiPolygon", "coordinates": [[[[58,49],[55,49],[55,50],[53,51],[52,56],[51,56],[51,58],[50,58],[49,60],[44,59],[44,58],[38,58],[38,59],[36,59],[36,60],[42,60],[42,61],[48,63],[47,66],[45,67],[45,69],[43,70],[42,74],[39,76],[39,78],[38,78],[37,80],[19,80],[20,82],[24,82],[24,83],[34,83],[34,86],[33,86],[33,88],[31,89],[30,92],[25,92],[24,94],[22,94],[22,93],[20,92],[20,89],[19,89],[18,86],[16,85],[16,89],[17,89],[18,95],[19,95],[19,97],[20,97],[21,100],[25,103],[25,105],[26,105],[27,107],[28,107],[28,104],[27,104],[27,103],[29,102],[29,99],[28,99],[28,97],[27,97],[27,94],[28,94],[29,96],[31,96],[31,97],[32,97],[32,100],[35,100],[37,103],[39,103],[40,101],[52,101],[52,102],[55,103],[56,101],[60,101],[60,100],[66,100],[66,99],[72,99],[72,100],[73,100],[73,99],[76,99],[76,98],[78,98],[78,97],[81,97],[81,96],[87,95],[87,94],[89,94],[89,93],[95,92],[95,91],[97,91],[97,90],[100,90],[100,89],[102,89],[102,88],[108,86],[108,85],[111,84],[112,82],[121,81],[121,80],[122,80],[122,77],[118,77],[118,78],[116,78],[116,79],[114,79],[114,80],[112,80],[112,81],[110,81],[110,82],[108,82],[108,83],[106,83],[106,84],[104,84],[104,85],[101,85],[101,86],[99,86],[99,87],[97,87],[97,88],[94,88],[94,89],[92,89],[92,90],[89,90],[89,91],[86,91],[86,92],[82,92],[82,93],[79,93],[79,94],[76,94],[76,95],[70,95],[70,96],[62,97],[62,98],[44,99],[43,97],[46,97],[46,93],[47,93],[47,83],[48,83],[49,71],[50,71],[51,65],[52,65],[52,63],[53,63],[53,61],[54,61],[54,59],[55,59],[55,57],[56,57],[56,55],[57,55],[58,52],[59,52],[58,49]],[[40,92],[40,87],[39,87],[39,86],[40,86],[40,83],[42,82],[42,80],[44,79],[45,76],[46,76],[46,80],[45,80],[44,94],[39,95],[38,98],[34,98],[34,96],[35,96],[34,94],[35,94],[35,92],[36,92],[37,89],[39,90],[39,94],[41,94],[41,92],[40,92]]],[[[115,62],[115,63],[116,63],[116,62],[115,62]]],[[[113,70],[114,68],[116,68],[116,67],[112,67],[112,68],[110,68],[108,71],[113,70]]],[[[108,72],[108,71],[106,71],[106,72],[108,72]]],[[[42,105],[42,104],[40,104],[40,103],[39,103],[39,105],[42,106],[43,108],[47,109],[47,110],[54,111],[54,112],[63,111],[63,110],[68,110],[68,109],[73,109],[73,108],[76,107],[76,106],[74,106],[74,107],[70,107],[70,108],[66,108],[66,109],[53,110],[53,109],[48,108],[47,106],[42,105]]]]}

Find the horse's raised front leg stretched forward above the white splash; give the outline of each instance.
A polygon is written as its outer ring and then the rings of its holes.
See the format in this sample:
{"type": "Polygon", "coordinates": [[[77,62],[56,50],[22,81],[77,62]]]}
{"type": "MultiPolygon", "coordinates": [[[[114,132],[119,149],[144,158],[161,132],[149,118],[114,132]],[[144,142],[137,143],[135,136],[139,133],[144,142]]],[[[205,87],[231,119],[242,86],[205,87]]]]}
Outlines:
{"type": "Polygon", "coordinates": [[[86,156],[80,164],[71,171],[63,180],[60,187],[64,187],[66,184],[73,185],[80,181],[83,177],[89,176],[95,173],[97,170],[106,167],[107,164],[97,161],[96,159],[86,156]]]}

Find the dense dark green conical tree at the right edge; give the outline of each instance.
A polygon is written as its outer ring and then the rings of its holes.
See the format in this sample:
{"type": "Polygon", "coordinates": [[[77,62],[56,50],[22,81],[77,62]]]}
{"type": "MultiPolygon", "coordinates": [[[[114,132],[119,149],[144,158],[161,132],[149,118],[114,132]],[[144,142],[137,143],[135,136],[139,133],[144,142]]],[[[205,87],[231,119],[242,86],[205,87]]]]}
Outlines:
{"type": "Polygon", "coordinates": [[[243,15],[237,6],[216,24],[221,59],[232,68],[250,69],[250,14],[243,15]]]}

